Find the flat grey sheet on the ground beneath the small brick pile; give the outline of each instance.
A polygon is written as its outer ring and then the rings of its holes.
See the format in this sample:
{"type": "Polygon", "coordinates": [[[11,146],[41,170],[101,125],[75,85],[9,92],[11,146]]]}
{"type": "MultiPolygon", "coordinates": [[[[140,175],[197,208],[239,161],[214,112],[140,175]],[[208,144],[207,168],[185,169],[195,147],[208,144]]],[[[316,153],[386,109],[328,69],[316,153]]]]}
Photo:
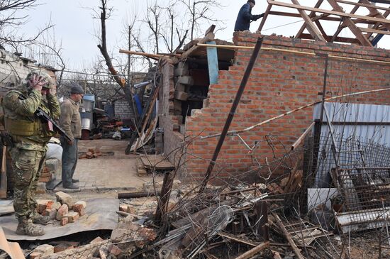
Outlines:
{"type": "Polygon", "coordinates": [[[65,226],[60,226],[60,221],[53,221],[51,224],[43,226],[46,232],[43,236],[16,235],[15,230],[18,221],[15,215],[1,216],[0,226],[3,227],[7,238],[12,241],[48,240],[84,231],[112,230],[116,228],[118,223],[118,215],[116,214],[119,208],[118,199],[97,198],[89,199],[86,202],[87,208],[85,208],[86,214],[84,216],[81,216],[76,222],[65,226]]]}

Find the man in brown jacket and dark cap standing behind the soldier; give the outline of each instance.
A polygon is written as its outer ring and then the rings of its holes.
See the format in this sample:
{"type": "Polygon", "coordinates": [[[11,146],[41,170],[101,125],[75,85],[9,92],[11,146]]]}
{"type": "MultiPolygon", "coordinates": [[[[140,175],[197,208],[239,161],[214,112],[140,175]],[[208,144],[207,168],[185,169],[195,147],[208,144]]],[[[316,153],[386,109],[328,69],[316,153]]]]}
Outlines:
{"type": "Polygon", "coordinates": [[[70,89],[70,97],[65,98],[61,104],[60,126],[72,140],[60,137],[62,151],[62,186],[65,189],[79,189],[74,179],[78,158],[78,142],[82,136],[82,119],[79,113],[79,101],[84,96],[84,89],[79,84],[74,84],[70,89]]]}

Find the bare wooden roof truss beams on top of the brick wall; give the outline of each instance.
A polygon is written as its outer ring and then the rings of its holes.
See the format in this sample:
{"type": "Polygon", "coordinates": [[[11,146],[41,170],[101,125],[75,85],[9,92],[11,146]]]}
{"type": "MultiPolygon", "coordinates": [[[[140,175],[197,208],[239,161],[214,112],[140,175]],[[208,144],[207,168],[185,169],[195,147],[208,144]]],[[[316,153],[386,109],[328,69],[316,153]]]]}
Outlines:
{"type": "Polygon", "coordinates": [[[289,0],[290,3],[282,1],[267,0],[268,6],[264,13],[264,18],[260,23],[258,31],[262,31],[269,15],[291,16],[303,18],[305,22],[296,34],[296,38],[306,38],[321,40],[327,42],[356,43],[364,46],[372,46],[380,40],[383,35],[390,35],[390,20],[387,18],[390,14],[389,7],[375,6],[369,0],[318,0],[314,7],[302,6],[299,0],[289,0]],[[332,10],[321,9],[324,2],[328,2],[332,10]],[[340,4],[353,6],[352,11],[347,13],[340,4]],[[286,9],[296,9],[298,13],[272,11],[272,6],[282,6],[286,9]],[[355,14],[359,9],[367,9],[367,16],[355,14]],[[308,13],[307,11],[310,11],[308,13]],[[323,29],[322,21],[338,22],[338,27],[333,35],[327,35],[323,29]],[[349,28],[355,35],[355,38],[339,37],[342,30],[349,28]],[[305,30],[309,34],[303,33],[305,30]]]}

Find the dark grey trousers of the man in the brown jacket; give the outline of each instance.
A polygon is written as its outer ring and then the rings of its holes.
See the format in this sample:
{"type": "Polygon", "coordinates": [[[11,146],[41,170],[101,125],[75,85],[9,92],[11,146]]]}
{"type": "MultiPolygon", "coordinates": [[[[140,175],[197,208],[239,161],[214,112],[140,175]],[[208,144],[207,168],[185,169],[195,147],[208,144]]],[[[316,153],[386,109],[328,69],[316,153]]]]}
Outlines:
{"type": "Polygon", "coordinates": [[[60,138],[62,145],[62,186],[72,184],[74,170],[76,170],[79,149],[78,138],[74,138],[73,145],[69,145],[65,138],[60,138]]]}

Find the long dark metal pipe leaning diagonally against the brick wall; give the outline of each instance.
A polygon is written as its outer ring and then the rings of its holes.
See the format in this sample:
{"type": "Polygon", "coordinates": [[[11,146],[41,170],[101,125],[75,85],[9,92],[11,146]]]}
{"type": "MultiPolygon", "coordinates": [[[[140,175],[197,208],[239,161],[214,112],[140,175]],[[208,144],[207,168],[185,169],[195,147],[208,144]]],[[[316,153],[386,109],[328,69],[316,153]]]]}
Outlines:
{"type": "Polygon", "coordinates": [[[201,188],[199,192],[203,192],[204,189],[206,188],[207,182],[210,179],[211,172],[213,171],[214,165],[216,165],[216,160],[218,158],[219,152],[221,151],[223,141],[225,140],[226,134],[228,133],[230,124],[233,121],[235,111],[237,110],[238,104],[240,103],[240,99],[243,96],[243,92],[245,90],[247,80],[249,79],[250,76],[250,72],[252,72],[252,68],[255,65],[255,62],[257,60],[257,55],[260,52],[260,48],[262,48],[262,40],[263,38],[257,38],[257,43],[255,45],[255,49],[253,50],[252,57],[250,57],[249,63],[247,65],[247,69],[245,70],[243,80],[241,81],[240,87],[238,88],[238,92],[235,95],[235,99],[233,101],[232,107],[228,114],[228,119],[226,119],[225,126],[223,126],[221,138],[219,138],[218,140],[218,144],[216,145],[216,150],[214,150],[213,158],[211,159],[210,164],[208,165],[206,175],[204,177],[203,182],[201,183],[201,188]]]}

